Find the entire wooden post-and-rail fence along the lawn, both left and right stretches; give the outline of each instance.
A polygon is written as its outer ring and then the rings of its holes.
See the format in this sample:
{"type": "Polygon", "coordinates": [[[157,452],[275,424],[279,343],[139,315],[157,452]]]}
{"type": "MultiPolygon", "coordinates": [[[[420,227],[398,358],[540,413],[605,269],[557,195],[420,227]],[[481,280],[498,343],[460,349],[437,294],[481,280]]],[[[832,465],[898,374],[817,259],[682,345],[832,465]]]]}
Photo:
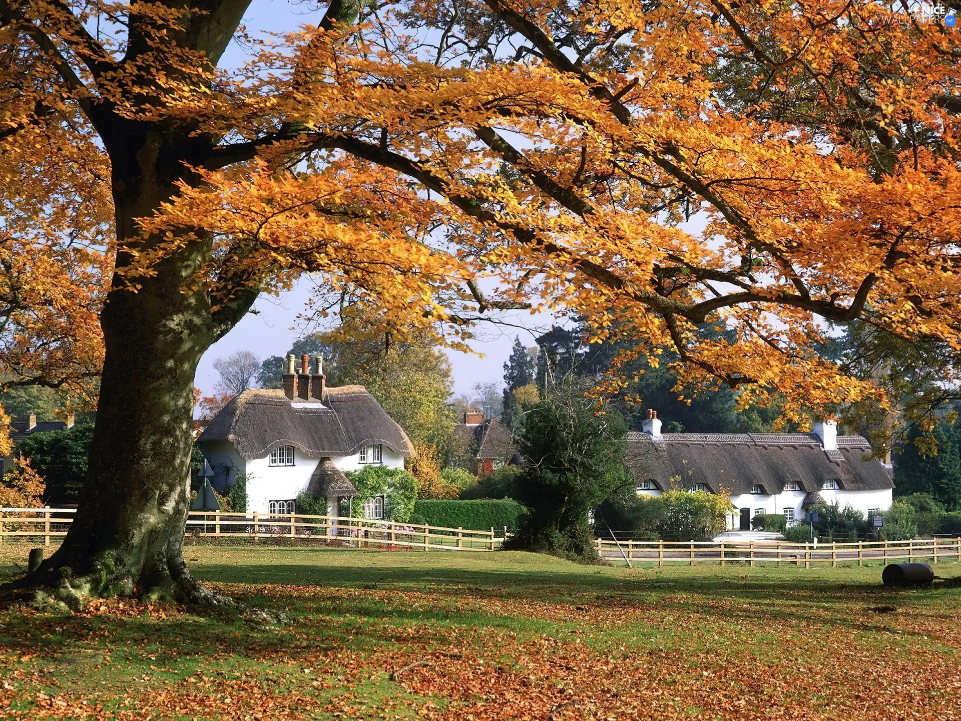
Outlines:
{"type": "MultiPolygon", "coordinates": [[[[26,541],[49,546],[66,535],[73,509],[0,508],[0,545],[26,541]]],[[[191,511],[186,535],[190,537],[250,540],[318,541],[356,548],[393,547],[422,551],[495,551],[502,547],[507,529],[474,531],[416,523],[395,523],[369,518],[305,515],[300,513],[222,513],[191,511]]],[[[669,564],[730,563],[750,566],[771,564],[810,568],[812,564],[837,567],[839,563],[887,565],[898,560],[933,563],[961,559],[961,537],[914,538],[903,541],[853,541],[850,543],[789,543],[788,541],[641,541],[596,539],[598,553],[611,562],[669,564]]]]}

